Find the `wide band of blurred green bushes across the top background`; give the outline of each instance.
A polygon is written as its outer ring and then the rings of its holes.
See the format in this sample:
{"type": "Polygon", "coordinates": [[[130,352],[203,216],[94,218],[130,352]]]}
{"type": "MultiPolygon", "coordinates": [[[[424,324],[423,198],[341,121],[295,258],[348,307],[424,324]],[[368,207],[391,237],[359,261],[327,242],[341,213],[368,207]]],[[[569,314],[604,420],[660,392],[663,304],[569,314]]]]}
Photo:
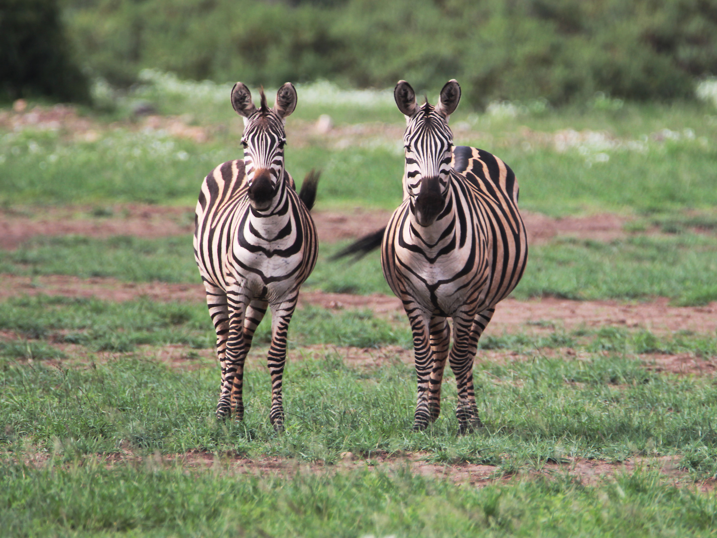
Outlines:
{"type": "Polygon", "coordinates": [[[717,0],[65,0],[82,58],[114,85],[142,68],[277,86],[325,78],[474,105],[692,98],[717,73],[717,0]]]}

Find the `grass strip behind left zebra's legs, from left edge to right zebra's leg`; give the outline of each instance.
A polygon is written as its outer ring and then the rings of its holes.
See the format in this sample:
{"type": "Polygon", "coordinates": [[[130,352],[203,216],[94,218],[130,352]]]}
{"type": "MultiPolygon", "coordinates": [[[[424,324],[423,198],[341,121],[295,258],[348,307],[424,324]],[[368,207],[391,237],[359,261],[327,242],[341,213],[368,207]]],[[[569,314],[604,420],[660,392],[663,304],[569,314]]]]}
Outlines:
{"type": "MultiPolygon", "coordinates": [[[[80,344],[90,351],[133,351],[148,344],[184,344],[197,349],[214,346],[214,328],[204,303],[163,303],[138,299],[125,303],[95,298],[34,296],[12,298],[0,309],[0,329],[26,339],[80,344]]],[[[271,341],[270,314],[255,334],[257,345],[271,341]]],[[[307,307],[296,311],[290,325],[292,345],[336,344],[376,347],[411,345],[404,324],[390,324],[371,311],[333,313],[307,307]]],[[[2,344],[0,357],[33,357],[49,351],[30,344],[2,344]],[[27,348],[27,349],[26,349],[27,348]]],[[[32,344],[34,345],[34,344],[32,344]]]]}

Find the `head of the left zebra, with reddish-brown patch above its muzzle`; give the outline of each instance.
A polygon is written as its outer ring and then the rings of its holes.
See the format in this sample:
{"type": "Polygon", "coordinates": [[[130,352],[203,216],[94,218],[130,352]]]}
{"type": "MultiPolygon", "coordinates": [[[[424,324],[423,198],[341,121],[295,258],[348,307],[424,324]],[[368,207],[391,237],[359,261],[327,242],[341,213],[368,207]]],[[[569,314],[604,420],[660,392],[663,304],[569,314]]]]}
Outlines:
{"type": "Polygon", "coordinates": [[[267,106],[264,89],[261,104],[256,108],[252,94],[242,82],[232,88],[232,106],[244,118],[244,169],[249,190],[247,195],[254,209],[271,207],[284,175],[285,118],[296,108],[296,89],[287,82],[276,93],[274,108],[267,106]]]}

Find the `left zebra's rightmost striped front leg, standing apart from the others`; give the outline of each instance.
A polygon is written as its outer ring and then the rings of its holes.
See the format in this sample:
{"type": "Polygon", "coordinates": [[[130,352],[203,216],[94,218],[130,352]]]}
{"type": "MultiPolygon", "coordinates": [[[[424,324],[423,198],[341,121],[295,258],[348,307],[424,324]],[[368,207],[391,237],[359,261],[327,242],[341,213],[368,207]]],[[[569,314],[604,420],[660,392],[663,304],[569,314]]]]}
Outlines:
{"type": "Polygon", "coordinates": [[[296,308],[298,294],[277,305],[271,306],[271,346],[267,356],[267,367],[271,375],[271,410],[269,420],[277,431],[284,429],[284,406],[282,385],[286,364],[286,338],[289,322],[296,308]]]}

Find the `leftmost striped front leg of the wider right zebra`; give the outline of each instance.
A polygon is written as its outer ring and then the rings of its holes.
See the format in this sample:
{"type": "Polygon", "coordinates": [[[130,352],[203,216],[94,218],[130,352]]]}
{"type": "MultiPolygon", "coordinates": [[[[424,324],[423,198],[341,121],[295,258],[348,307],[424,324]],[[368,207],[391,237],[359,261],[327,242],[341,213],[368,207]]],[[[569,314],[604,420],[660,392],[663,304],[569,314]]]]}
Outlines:
{"type": "Polygon", "coordinates": [[[432,422],[429,408],[431,373],[433,371],[433,351],[429,338],[430,315],[415,303],[404,303],[404,307],[413,331],[413,350],[418,384],[413,429],[425,430],[432,422]]]}

